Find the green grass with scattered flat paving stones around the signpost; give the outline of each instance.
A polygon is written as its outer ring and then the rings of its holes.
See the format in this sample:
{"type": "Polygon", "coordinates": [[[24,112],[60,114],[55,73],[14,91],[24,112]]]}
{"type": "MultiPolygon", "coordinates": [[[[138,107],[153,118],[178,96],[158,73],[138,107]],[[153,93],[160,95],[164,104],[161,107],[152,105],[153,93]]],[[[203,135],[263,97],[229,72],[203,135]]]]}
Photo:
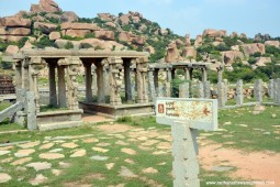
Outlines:
{"type": "MultiPolygon", "coordinates": [[[[214,141],[223,146],[251,151],[280,152],[280,108],[266,107],[264,113],[254,116],[253,108],[221,110],[219,116],[220,131],[200,132],[208,135],[205,141],[214,141]],[[272,118],[271,114],[278,114],[272,118]],[[227,144],[231,142],[231,144],[227,144]]],[[[124,117],[115,123],[131,127],[125,132],[107,132],[100,129],[104,124],[83,125],[75,129],[55,130],[49,132],[21,132],[1,134],[0,143],[31,141],[34,145],[5,147],[8,154],[0,155],[0,173],[9,174],[12,179],[2,187],[32,186],[36,175],[42,174],[47,179],[40,186],[172,186],[170,127],[157,124],[155,118],[124,117]],[[66,147],[71,144],[72,147],[66,147]],[[49,146],[46,146],[49,145],[49,146]],[[52,146],[51,146],[52,145],[52,146]],[[45,146],[45,148],[43,148],[45,146]],[[124,153],[123,148],[132,151],[124,153]],[[34,151],[24,157],[18,157],[21,150],[34,151]],[[86,154],[71,157],[76,152],[86,154]],[[58,153],[63,158],[42,158],[45,153],[58,153]],[[29,157],[30,161],[13,165],[14,162],[29,157]],[[101,157],[98,161],[94,157],[101,157]],[[51,168],[36,172],[26,165],[30,163],[47,162],[51,168]],[[145,172],[152,168],[152,172],[145,172]],[[127,172],[128,170],[128,172],[127,172]],[[125,173],[125,174],[122,174],[125,173]]],[[[0,132],[22,129],[16,124],[0,124],[0,132]]],[[[24,145],[24,144],[23,144],[24,145]]],[[[0,147],[0,151],[3,147],[0,147]]],[[[246,180],[246,178],[229,178],[228,172],[206,172],[201,169],[201,186],[205,182],[246,180]]]]}

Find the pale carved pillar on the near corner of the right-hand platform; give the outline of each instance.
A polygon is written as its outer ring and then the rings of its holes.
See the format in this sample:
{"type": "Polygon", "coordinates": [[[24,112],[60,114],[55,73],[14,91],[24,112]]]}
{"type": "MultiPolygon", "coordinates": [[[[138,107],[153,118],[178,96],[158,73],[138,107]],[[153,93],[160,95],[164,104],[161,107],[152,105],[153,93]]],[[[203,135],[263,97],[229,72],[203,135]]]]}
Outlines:
{"type": "Polygon", "coordinates": [[[120,57],[109,58],[109,79],[110,79],[110,105],[120,106],[122,105],[121,99],[121,87],[124,79],[124,67],[123,59],[120,57]]]}

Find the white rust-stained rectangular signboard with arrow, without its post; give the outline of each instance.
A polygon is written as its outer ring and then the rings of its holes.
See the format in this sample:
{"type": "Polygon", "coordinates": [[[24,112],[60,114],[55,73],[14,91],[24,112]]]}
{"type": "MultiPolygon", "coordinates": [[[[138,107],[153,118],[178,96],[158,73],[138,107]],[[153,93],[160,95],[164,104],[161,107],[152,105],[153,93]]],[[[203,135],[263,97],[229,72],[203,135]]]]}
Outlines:
{"type": "Polygon", "coordinates": [[[172,124],[175,121],[188,122],[190,128],[217,130],[216,99],[157,98],[157,123],[172,124]]]}

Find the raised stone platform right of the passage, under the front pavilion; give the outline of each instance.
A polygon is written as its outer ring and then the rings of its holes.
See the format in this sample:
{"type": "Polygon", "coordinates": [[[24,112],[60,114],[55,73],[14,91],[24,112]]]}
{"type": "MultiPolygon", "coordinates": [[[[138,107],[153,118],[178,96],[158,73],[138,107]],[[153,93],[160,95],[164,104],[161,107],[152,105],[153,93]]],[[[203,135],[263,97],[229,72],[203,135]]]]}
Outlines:
{"type": "Polygon", "coordinates": [[[154,103],[134,103],[122,106],[110,106],[103,103],[79,102],[79,108],[85,113],[102,114],[110,118],[125,116],[153,116],[155,114],[154,103]]]}

